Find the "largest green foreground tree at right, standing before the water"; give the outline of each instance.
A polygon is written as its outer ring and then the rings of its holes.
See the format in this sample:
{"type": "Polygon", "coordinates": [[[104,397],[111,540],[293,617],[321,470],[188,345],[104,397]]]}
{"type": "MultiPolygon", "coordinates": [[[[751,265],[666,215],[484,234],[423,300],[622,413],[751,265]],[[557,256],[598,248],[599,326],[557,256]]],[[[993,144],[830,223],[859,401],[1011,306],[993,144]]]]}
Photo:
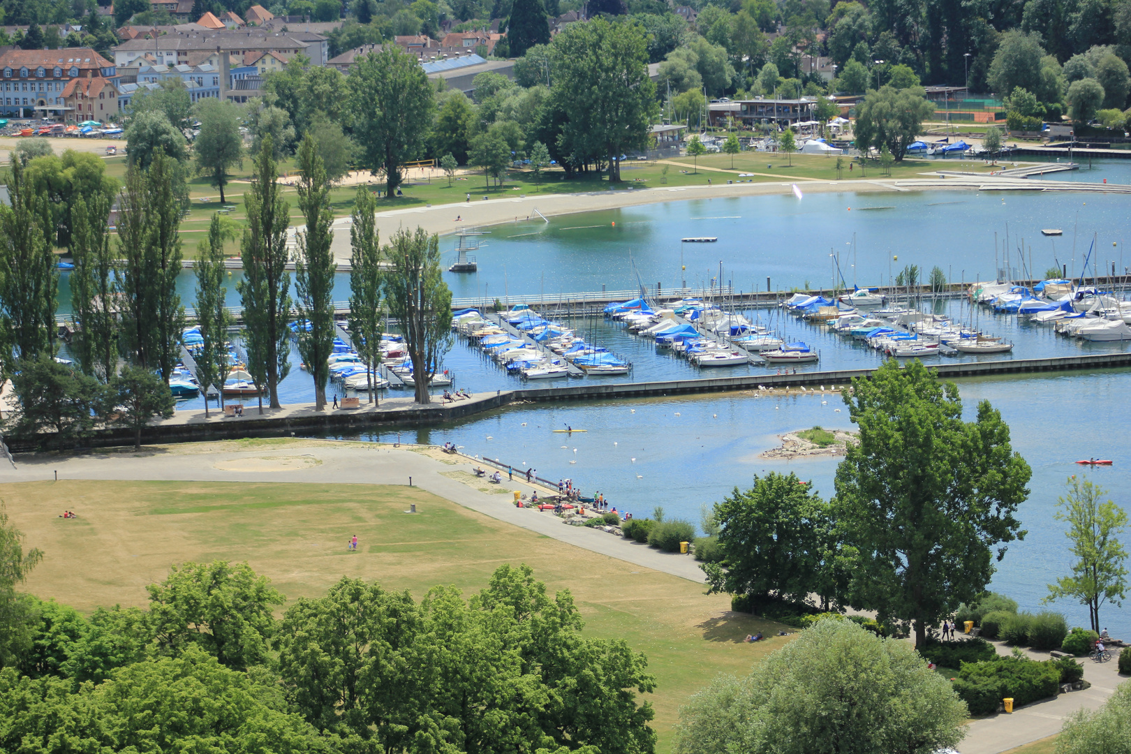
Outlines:
{"type": "Polygon", "coordinates": [[[1009,426],[988,401],[962,422],[953,383],[921,362],[884,363],[844,393],[860,443],[837,468],[834,518],[855,547],[854,606],[881,622],[929,626],[985,590],[1005,544],[1025,536],[1017,508],[1031,471],[1009,444],[1009,426]]]}

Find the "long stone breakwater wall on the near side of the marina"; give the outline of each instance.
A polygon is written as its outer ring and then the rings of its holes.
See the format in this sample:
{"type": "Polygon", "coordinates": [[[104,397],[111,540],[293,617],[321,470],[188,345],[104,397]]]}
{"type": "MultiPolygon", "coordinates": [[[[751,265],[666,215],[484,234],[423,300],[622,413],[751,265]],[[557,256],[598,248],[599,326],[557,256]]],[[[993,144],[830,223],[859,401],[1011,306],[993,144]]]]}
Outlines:
{"type": "MultiPolygon", "coordinates": [[[[955,380],[991,375],[1021,375],[1042,372],[1096,371],[1131,367],[1131,353],[1099,354],[1093,356],[1061,356],[1053,358],[994,359],[960,364],[931,365],[939,379],[955,380]]],[[[265,409],[259,414],[254,406],[247,406],[240,417],[225,417],[222,411],[178,411],[170,419],[155,422],[143,430],[145,444],[206,442],[244,437],[293,437],[334,434],[353,434],[366,428],[382,431],[397,427],[416,427],[454,422],[477,414],[523,404],[552,401],[607,401],[619,398],[649,398],[707,392],[741,392],[821,387],[843,388],[854,378],[869,378],[874,370],[840,370],[802,372],[796,374],[752,374],[656,382],[621,382],[497,390],[481,392],[472,398],[420,405],[411,398],[388,399],[380,405],[361,404],[359,408],[313,410],[313,405],[287,406],[265,409]]],[[[6,439],[12,452],[29,452],[54,447],[52,435],[6,439]]],[[[127,428],[97,430],[88,439],[92,448],[133,444],[133,432],[127,428]]]]}

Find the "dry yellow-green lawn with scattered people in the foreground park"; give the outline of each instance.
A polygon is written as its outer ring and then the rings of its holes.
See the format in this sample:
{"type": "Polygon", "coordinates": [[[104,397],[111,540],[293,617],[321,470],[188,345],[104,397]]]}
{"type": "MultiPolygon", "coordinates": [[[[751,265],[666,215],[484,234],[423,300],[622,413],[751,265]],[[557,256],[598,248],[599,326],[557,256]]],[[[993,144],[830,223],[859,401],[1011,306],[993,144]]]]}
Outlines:
{"type": "MultiPolygon", "coordinates": [[[[240,462],[253,462],[243,460],[240,462]]],[[[288,463],[312,462],[295,449],[288,463]]],[[[226,468],[226,467],[225,467],[226,468]]],[[[469,511],[418,487],[185,482],[0,485],[27,544],[45,553],[27,582],[89,612],[144,605],[145,586],[185,561],[247,561],[288,598],[318,596],[343,574],[409,589],[485,586],[502,563],[527,563],[569,589],[586,633],[623,638],[648,657],[661,751],[679,705],[718,673],[744,674],[780,647],[777,624],[728,612],[701,584],[579,549],[469,511]],[[411,503],[418,513],[404,513],[411,503]],[[64,509],[78,519],[57,518],[64,509]],[[356,534],[359,552],[346,552],[356,534]],[[748,644],[762,631],[766,642],[748,644]]]]}

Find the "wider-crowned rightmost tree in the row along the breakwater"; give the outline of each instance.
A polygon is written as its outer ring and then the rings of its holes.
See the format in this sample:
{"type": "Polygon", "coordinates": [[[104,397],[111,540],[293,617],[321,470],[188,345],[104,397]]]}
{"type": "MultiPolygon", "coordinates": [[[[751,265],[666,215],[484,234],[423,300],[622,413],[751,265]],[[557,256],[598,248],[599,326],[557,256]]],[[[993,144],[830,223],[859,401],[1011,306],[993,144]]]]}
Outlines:
{"type": "Polygon", "coordinates": [[[385,248],[389,315],[400,322],[413,362],[416,402],[431,400],[428,388],[451,347],[451,291],[440,268],[440,239],[423,228],[400,229],[385,248]]]}

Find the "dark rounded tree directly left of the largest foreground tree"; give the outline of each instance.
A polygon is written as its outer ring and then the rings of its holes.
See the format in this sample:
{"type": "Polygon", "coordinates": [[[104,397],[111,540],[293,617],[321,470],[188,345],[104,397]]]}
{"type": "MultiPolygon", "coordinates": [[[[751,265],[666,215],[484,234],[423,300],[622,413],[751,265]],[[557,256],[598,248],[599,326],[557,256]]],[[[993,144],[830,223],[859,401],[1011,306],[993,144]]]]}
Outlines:
{"type": "Polygon", "coordinates": [[[830,527],[828,504],[794,474],[754,476],[715,503],[720,563],[706,563],[711,592],[741,595],[756,608],[771,599],[805,601],[817,591],[820,541],[830,527]]]}

